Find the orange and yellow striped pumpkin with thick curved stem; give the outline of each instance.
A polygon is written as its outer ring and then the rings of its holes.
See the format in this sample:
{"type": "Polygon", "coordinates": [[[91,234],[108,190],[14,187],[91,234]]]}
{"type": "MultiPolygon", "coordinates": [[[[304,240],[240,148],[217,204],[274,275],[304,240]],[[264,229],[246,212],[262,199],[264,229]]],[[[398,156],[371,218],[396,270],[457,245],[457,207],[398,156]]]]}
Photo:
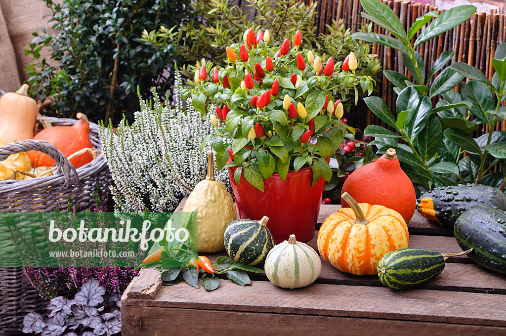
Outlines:
{"type": "Polygon", "coordinates": [[[408,247],[406,222],[383,205],[358,204],[348,194],[344,207],[328,216],[318,232],[321,257],[336,269],[355,275],[377,274],[379,259],[390,251],[408,247]]]}

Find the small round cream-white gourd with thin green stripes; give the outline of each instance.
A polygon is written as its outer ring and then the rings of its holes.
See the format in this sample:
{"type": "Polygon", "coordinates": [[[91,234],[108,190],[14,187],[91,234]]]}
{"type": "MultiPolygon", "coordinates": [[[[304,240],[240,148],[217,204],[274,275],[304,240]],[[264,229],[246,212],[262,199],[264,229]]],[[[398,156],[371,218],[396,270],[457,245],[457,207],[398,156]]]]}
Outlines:
{"type": "Polygon", "coordinates": [[[316,251],[298,242],[295,235],[274,246],[265,260],[265,274],[276,286],[300,288],[313,283],[321,272],[316,251]]]}

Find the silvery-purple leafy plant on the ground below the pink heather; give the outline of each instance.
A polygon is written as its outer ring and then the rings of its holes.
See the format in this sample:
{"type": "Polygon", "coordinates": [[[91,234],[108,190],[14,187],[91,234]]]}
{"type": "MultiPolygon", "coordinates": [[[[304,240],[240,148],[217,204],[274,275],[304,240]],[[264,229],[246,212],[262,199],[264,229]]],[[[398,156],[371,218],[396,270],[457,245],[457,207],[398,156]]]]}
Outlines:
{"type": "Polygon", "coordinates": [[[53,298],[46,317],[31,312],[23,320],[24,333],[42,336],[111,336],[121,331],[119,295],[104,297],[106,289],[91,278],[73,299],[53,298]]]}

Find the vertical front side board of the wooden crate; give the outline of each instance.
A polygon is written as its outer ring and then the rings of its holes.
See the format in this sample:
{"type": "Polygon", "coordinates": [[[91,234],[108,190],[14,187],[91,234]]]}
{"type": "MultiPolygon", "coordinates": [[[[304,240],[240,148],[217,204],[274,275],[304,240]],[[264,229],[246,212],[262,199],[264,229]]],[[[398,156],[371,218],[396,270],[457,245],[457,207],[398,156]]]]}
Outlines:
{"type": "Polygon", "coordinates": [[[138,306],[122,306],[121,323],[123,336],[506,335],[506,328],[484,325],[138,306]]]}

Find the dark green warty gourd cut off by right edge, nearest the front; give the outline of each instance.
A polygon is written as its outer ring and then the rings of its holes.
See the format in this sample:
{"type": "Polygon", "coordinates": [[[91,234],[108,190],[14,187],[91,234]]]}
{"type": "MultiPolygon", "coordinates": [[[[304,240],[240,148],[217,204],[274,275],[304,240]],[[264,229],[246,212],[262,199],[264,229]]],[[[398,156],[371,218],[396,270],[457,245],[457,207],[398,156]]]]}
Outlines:
{"type": "Polygon", "coordinates": [[[455,222],[453,233],[462,249],[475,263],[506,274],[506,214],[491,206],[476,206],[455,222]]]}

